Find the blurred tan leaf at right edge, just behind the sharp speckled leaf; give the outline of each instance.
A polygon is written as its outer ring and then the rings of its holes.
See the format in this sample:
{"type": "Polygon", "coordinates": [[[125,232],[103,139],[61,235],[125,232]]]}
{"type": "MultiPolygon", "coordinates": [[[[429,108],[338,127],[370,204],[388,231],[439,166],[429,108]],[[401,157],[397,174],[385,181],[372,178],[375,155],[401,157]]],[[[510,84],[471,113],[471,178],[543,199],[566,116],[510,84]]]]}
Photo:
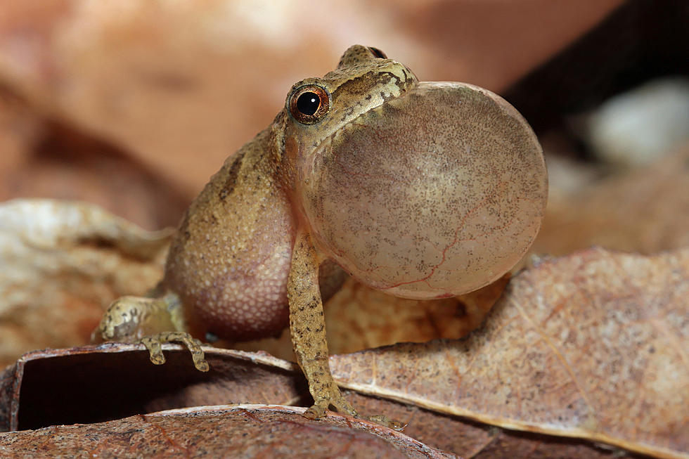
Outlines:
{"type": "Polygon", "coordinates": [[[591,245],[643,254],[689,246],[689,146],[550,200],[532,251],[566,254],[591,245]]]}

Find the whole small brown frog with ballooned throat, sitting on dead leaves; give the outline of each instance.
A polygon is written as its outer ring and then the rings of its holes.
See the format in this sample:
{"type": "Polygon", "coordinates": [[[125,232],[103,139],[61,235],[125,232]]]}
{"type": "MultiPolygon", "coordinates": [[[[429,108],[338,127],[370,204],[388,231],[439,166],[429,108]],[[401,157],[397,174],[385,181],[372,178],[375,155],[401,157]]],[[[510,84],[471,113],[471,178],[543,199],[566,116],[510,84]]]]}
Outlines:
{"type": "Polygon", "coordinates": [[[212,177],[157,295],[117,300],[96,332],[143,338],[157,363],[160,342],[183,341],[206,370],[191,336],[253,340],[289,323],[314,396],[307,416],[329,406],[356,415],[330,375],[321,290],[337,290],[342,269],[399,297],[477,290],[527,252],[546,195],[541,147],[506,101],[418,82],[352,46],[333,72],[295,84],[273,123],[212,177]]]}

